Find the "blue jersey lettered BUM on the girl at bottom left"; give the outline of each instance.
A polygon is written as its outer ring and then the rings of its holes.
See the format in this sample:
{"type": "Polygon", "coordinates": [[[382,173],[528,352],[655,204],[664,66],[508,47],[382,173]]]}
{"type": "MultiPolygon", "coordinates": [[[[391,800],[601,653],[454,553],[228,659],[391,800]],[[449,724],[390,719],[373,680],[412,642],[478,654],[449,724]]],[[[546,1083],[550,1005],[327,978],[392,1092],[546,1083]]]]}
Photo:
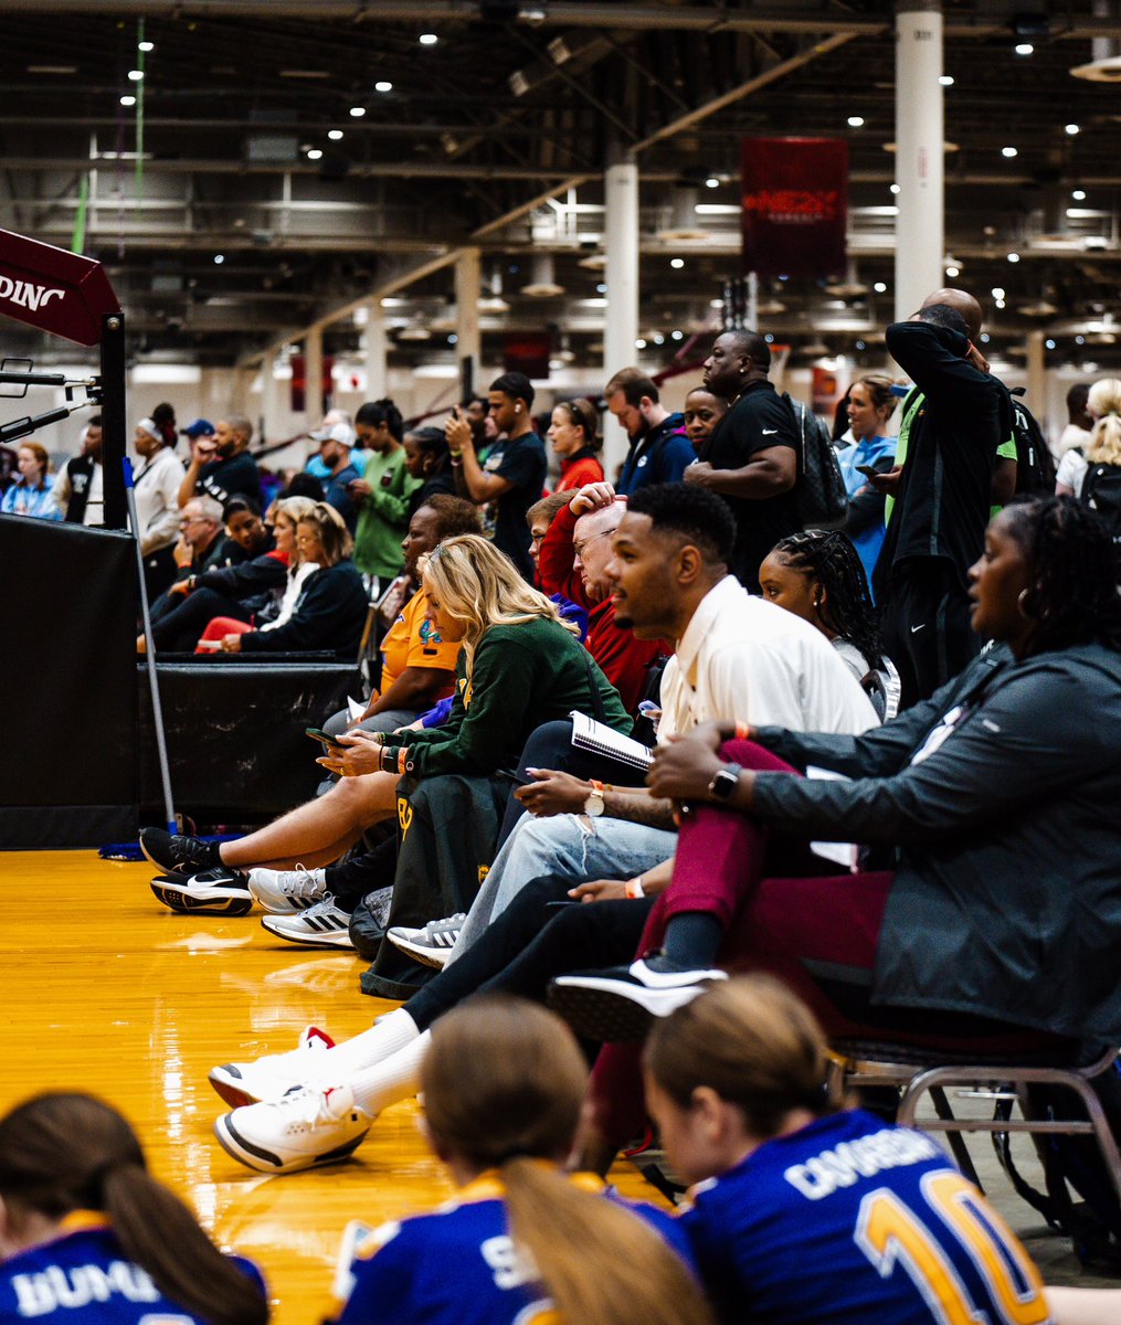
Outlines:
{"type": "MultiPolygon", "coordinates": [[[[261,1288],[257,1267],[235,1263],[261,1288]]],[[[103,1215],[80,1210],[62,1220],[58,1238],[17,1252],[0,1265],[0,1325],[205,1325],[160,1293],[134,1265],[103,1215]]]]}

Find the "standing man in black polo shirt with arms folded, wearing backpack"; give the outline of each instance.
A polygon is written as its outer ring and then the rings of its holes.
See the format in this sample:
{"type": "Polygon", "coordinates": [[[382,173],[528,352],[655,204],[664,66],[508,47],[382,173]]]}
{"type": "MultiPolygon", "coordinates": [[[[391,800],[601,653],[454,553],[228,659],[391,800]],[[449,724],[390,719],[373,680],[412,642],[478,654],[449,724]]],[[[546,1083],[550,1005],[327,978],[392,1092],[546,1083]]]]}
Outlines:
{"type": "Polygon", "coordinates": [[[802,527],[791,489],[798,480],[798,425],[767,380],[771,351],[757,331],[725,331],[705,360],[705,386],[729,401],[697,464],[684,474],[718,493],[735,519],[731,572],[759,592],[759,566],[780,538],[802,527]]]}

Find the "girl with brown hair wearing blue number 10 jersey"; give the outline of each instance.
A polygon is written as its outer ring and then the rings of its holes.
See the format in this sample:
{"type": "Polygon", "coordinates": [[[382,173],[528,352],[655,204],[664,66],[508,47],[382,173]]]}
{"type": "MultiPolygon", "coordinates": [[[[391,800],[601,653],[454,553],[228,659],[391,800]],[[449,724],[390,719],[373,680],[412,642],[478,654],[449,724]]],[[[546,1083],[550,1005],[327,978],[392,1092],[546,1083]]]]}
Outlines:
{"type": "Polygon", "coordinates": [[[1079,1325],[1118,1293],[1048,1289],[1015,1234],[925,1134],[826,1094],[826,1040],[751,975],[659,1022],[647,1100],[720,1317],[753,1325],[1079,1325]]]}

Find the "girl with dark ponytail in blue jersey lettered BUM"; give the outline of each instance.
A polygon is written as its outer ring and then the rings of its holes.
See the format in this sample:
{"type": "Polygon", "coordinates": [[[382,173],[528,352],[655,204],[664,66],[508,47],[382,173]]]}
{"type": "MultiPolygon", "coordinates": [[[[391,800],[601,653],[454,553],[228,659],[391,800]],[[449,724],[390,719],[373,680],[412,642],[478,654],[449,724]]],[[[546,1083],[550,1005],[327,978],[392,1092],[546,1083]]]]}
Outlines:
{"type": "Polygon", "coordinates": [[[144,1167],[129,1124],[87,1094],[0,1121],[0,1322],[264,1325],[265,1285],[223,1256],[144,1167]]]}

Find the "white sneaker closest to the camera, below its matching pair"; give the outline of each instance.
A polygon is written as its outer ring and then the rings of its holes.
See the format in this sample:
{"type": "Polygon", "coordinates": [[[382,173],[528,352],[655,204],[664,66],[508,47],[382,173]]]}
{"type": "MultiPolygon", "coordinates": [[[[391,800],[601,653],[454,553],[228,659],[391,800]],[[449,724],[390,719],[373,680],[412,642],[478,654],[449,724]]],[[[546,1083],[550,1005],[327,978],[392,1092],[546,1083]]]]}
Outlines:
{"type": "Polygon", "coordinates": [[[223,1149],[257,1173],[295,1173],[350,1158],[374,1117],[354,1102],[350,1086],[305,1086],[273,1104],[223,1114],[215,1136],[223,1149]]]}

